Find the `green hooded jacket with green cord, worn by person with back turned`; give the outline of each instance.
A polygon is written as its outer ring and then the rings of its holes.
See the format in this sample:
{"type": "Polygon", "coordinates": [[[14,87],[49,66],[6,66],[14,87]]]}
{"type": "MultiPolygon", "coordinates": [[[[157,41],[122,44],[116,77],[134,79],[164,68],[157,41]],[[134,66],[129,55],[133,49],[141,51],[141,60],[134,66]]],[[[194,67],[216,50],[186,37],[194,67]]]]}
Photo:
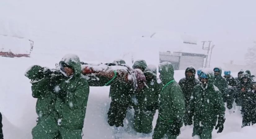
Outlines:
{"type": "Polygon", "coordinates": [[[163,62],[159,64],[159,72],[159,78],[164,86],[160,92],[158,118],[165,121],[182,121],[185,102],[182,89],[173,78],[173,65],[170,62],[163,62]]]}

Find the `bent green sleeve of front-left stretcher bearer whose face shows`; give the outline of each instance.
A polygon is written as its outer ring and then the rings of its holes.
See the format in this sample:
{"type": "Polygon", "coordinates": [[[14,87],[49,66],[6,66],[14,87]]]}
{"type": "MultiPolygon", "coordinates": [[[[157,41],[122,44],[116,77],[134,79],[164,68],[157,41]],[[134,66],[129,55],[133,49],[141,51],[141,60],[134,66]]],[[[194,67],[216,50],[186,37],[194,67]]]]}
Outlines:
{"type": "Polygon", "coordinates": [[[88,96],[89,84],[86,79],[81,78],[81,80],[77,84],[76,90],[73,93],[67,93],[67,99],[65,103],[71,108],[84,108],[87,106],[88,96]]]}

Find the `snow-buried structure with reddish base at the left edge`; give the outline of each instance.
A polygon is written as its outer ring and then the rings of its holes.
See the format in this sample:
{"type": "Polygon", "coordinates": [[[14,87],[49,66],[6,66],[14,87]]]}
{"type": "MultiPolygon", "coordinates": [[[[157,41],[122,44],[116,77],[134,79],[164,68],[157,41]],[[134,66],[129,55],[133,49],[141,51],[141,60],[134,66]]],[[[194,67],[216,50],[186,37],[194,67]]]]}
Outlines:
{"type": "Polygon", "coordinates": [[[31,31],[26,23],[0,19],[0,56],[29,57],[34,42],[29,40],[31,31]]]}

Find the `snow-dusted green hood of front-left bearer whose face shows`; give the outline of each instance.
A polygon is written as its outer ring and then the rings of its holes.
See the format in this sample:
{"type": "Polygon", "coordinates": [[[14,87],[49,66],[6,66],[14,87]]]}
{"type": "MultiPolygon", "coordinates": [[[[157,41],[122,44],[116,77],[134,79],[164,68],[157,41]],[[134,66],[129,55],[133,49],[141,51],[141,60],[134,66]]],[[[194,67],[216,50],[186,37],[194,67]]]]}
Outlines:
{"type": "Polygon", "coordinates": [[[65,74],[64,69],[63,69],[63,65],[68,65],[70,68],[72,68],[74,70],[74,74],[73,76],[80,76],[81,75],[81,64],[80,64],[80,59],[77,55],[65,55],[59,65],[61,66],[61,71],[62,74],[65,74]]]}

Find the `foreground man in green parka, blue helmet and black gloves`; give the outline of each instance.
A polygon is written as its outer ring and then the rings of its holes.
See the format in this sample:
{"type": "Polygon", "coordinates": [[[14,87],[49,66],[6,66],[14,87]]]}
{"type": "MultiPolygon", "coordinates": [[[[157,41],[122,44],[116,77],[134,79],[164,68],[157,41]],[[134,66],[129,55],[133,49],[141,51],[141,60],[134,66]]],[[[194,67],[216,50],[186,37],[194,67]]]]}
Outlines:
{"type": "Polygon", "coordinates": [[[213,75],[207,70],[202,70],[200,83],[194,88],[187,113],[190,122],[194,117],[193,137],[211,139],[217,121],[217,133],[221,133],[224,128],[225,106],[221,92],[213,83],[213,75]]]}

